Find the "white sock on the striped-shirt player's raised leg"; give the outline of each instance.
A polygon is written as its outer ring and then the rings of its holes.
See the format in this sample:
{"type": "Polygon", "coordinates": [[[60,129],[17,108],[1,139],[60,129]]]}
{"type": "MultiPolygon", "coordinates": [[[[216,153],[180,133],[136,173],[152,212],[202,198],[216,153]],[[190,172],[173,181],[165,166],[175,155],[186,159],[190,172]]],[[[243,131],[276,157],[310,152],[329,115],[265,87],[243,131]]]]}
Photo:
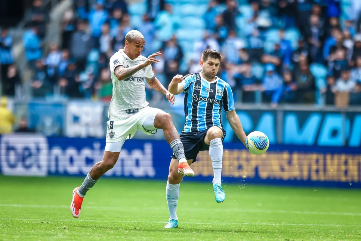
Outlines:
{"type": "Polygon", "coordinates": [[[222,184],[221,174],[222,174],[222,158],[223,158],[223,144],[221,138],[213,139],[209,142],[209,155],[212,159],[213,167],[213,185],[216,183],[222,184]]]}

